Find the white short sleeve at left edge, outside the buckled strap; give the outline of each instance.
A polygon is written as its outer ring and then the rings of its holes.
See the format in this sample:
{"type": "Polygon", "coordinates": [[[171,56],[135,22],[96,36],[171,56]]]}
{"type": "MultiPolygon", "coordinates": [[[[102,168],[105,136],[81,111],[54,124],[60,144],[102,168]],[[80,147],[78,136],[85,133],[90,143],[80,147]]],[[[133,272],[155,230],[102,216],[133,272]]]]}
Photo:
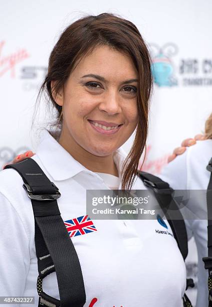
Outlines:
{"type": "Polygon", "coordinates": [[[0,251],[0,296],[22,296],[30,267],[29,238],[18,212],[2,193],[0,251]]]}

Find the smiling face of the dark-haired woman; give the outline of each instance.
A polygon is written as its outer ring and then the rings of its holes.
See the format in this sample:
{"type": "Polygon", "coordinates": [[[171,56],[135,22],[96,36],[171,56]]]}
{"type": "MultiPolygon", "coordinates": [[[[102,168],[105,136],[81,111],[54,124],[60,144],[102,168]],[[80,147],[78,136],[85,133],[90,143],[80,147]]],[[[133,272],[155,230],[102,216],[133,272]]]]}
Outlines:
{"type": "Polygon", "coordinates": [[[137,84],[129,56],[108,46],[94,49],[55,99],[63,106],[63,143],[95,156],[112,154],[138,123],[137,84]]]}

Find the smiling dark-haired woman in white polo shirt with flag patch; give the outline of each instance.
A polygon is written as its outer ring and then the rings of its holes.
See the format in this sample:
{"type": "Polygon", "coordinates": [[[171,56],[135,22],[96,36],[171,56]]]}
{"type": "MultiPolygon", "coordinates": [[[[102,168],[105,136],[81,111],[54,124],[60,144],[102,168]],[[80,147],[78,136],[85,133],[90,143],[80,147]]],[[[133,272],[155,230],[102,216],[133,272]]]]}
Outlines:
{"type": "MultiPolygon", "coordinates": [[[[151,87],[149,53],[131,22],[106,13],[87,16],[61,35],[42,85],[61,129],[56,124],[55,138],[44,131],[33,159],[59,188],[65,223],[85,216],[87,189],[146,189],[136,174],[146,142],[151,87]],[[134,130],[126,157],[120,146],[134,130]]],[[[35,296],[36,306],[35,224],[22,185],[17,172],[0,173],[0,295],[35,296]]],[[[157,220],[94,220],[93,225],[91,233],[71,234],[85,306],[182,305],[183,258],[173,236],[155,233],[163,230],[157,220]]],[[[44,278],[43,289],[60,299],[55,272],[44,278]]]]}

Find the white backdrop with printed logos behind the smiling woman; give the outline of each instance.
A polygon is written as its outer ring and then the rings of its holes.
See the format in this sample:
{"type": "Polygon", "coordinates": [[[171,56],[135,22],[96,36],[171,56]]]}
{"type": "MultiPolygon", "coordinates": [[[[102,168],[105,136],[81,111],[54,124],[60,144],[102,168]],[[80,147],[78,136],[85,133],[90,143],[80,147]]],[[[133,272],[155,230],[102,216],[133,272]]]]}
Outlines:
{"type": "MultiPolygon", "coordinates": [[[[183,138],[203,130],[212,111],[210,0],[0,3],[0,167],[25,148],[36,150],[32,114],[48,57],[65,27],[84,14],[119,14],[138,27],[150,46],[155,85],[144,170],[158,172],[183,138]]],[[[131,143],[132,137],[125,150],[131,143]]],[[[191,246],[187,262],[192,273],[196,254],[191,246]]]]}

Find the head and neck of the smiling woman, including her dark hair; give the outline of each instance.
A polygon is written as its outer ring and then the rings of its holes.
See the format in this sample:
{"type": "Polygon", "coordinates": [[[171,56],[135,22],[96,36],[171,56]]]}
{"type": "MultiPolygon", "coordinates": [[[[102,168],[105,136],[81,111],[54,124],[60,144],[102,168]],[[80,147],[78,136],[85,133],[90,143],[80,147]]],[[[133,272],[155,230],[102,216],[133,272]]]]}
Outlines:
{"type": "Polygon", "coordinates": [[[121,171],[122,189],[130,190],[145,148],[151,89],[150,56],[138,29],[103,13],[63,32],[40,97],[46,91],[58,111],[59,143],[92,171],[117,176],[113,152],[136,129],[121,171]]]}

